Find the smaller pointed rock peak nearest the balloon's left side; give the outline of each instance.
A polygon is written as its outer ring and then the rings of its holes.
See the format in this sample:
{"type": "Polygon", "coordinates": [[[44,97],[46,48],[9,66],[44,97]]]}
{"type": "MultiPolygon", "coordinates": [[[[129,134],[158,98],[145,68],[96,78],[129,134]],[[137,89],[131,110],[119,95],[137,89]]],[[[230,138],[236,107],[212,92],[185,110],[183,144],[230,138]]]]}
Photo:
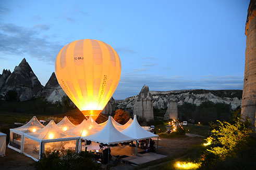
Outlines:
{"type": "Polygon", "coordinates": [[[62,97],[65,96],[65,92],[58,84],[55,73],[53,72],[45,87],[38,93],[37,96],[45,96],[47,101],[56,102],[62,101],[62,97]]]}

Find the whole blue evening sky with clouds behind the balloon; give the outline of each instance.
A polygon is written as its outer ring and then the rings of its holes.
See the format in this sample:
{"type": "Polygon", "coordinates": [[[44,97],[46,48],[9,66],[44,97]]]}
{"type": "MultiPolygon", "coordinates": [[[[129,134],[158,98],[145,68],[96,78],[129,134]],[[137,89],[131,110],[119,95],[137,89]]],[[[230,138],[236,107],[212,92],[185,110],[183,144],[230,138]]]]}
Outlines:
{"type": "Polygon", "coordinates": [[[0,2],[0,70],[25,57],[42,85],[59,50],[91,38],[111,45],[122,73],[113,95],[242,89],[249,0],[0,2]]]}

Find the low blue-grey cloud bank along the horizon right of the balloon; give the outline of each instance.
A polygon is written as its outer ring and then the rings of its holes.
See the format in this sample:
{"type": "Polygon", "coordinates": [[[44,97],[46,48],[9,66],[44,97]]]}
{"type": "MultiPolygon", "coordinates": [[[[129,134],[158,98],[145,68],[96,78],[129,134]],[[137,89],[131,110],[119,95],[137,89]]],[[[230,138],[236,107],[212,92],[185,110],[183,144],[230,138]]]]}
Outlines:
{"type": "Polygon", "coordinates": [[[195,79],[186,76],[163,77],[162,75],[126,73],[121,76],[114,94],[115,99],[125,99],[138,95],[143,85],[152,91],[180,89],[242,89],[243,77],[211,76],[211,79],[195,79]]]}

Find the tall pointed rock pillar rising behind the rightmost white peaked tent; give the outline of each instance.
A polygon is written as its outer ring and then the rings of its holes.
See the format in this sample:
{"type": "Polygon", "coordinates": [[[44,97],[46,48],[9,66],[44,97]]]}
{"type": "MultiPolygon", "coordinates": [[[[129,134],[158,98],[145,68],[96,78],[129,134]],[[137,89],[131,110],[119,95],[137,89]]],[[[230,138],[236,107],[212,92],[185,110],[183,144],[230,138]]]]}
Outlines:
{"type": "Polygon", "coordinates": [[[149,87],[144,85],[140,91],[140,94],[135,99],[133,106],[133,115],[145,117],[147,121],[154,119],[153,113],[153,97],[149,93],[149,87]]]}

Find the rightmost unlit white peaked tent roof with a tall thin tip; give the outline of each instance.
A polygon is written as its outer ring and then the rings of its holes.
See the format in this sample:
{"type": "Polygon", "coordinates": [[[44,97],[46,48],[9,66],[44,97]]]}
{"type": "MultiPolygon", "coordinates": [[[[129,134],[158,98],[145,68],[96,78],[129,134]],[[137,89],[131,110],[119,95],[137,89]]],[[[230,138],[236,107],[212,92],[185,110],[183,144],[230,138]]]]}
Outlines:
{"type": "Polygon", "coordinates": [[[137,140],[158,136],[143,129],[137,121],[137,115],[134,115],[133,121],[130,124],[130,126],[124,130],[121,130],[120,132],[123,133],[124,135],[127,135],[131,138],[135,138],[137,140]]]}

